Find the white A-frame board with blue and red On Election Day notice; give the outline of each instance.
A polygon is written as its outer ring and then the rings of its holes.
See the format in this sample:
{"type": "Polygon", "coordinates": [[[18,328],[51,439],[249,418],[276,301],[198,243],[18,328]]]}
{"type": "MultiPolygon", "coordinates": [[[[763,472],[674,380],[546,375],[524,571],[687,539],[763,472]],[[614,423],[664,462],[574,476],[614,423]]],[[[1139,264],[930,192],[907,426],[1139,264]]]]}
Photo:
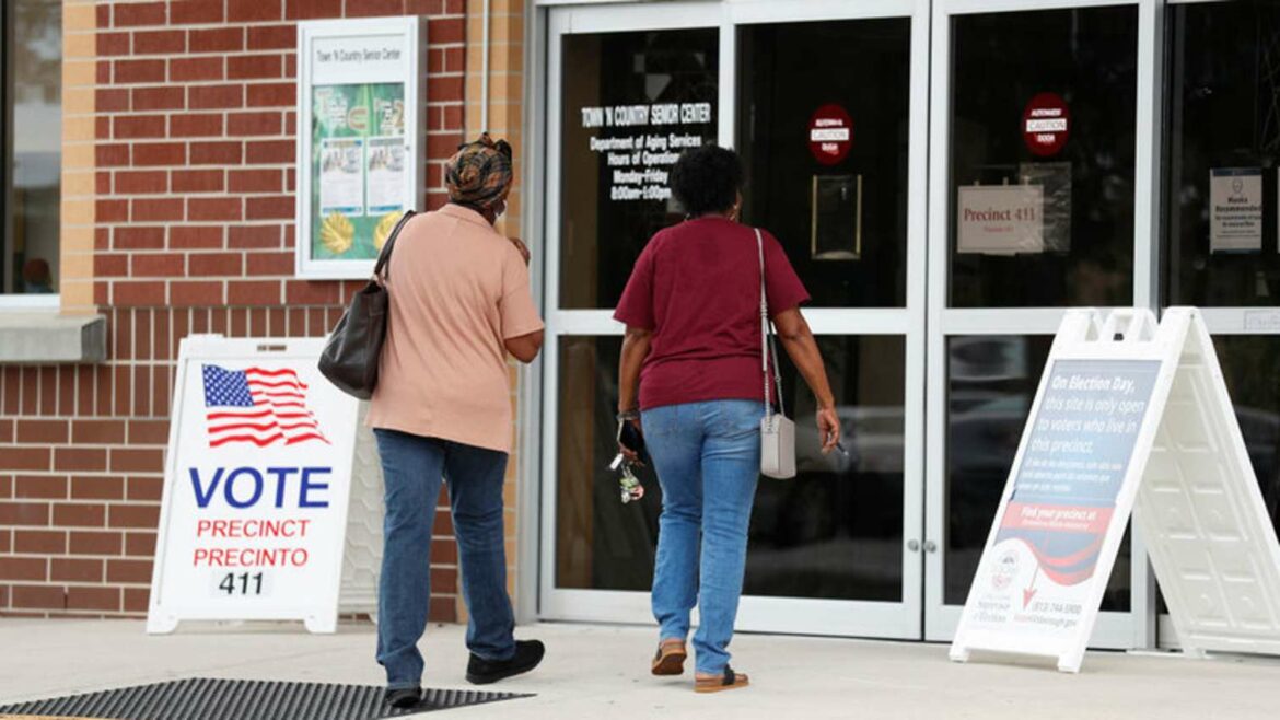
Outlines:
{"type": "Polygon", "coordinates": [[[1280,652],[1280,544],[1192,307],[1066,313],[951,659],[1079,671],[1130,511],[1184,648],[1280,652]]]}

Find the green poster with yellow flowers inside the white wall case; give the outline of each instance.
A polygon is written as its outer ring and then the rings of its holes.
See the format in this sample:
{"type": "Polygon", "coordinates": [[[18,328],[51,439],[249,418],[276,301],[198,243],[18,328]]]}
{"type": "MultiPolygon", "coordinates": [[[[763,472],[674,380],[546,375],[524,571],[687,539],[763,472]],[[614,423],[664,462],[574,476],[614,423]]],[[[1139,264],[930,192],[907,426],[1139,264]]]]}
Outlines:
{"type": "Polygon", "coordinates": [[[406,208],[404,85],[312,88],[311,258],[371,260],[406,208]]]}

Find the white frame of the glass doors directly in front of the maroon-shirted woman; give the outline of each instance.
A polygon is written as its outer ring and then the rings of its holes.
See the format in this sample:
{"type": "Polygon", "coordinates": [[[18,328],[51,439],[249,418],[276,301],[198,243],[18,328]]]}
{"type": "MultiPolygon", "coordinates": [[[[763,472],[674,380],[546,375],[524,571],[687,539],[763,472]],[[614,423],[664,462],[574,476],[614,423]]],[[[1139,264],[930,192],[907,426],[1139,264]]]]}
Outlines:
{"type": "MultiPolygon", "coordinates": [[[[718,27],[719,142],[735,145],[737,83],[737,27],[758,23],[910,17],[911,94],[909,140],[909,202],[906,306],[890,309],[815,309],[805,318],[815,334],[891,334],[906,343],[904,488],[902,488],[902,600],[900,602],[832,601],[812,598],[744,597],[737,626],[741,630],[828,635],[920,638],[924,600],[924,351],[925,351],[925,187],[928,140],[928,0],[727,0],[724,3],[594,4],[550,8],[547,18],[545,73],[545,247],[544,306],[547,316],[545,372],[541,378],[541,534],[538,614],[548,620],[611,623],[650,621],[649,596],[643,592],[557,588],[556,501],[558,341],[563,336],[620,336],[622,325],[611,310],[559,309],[559,165],[561,158],[561,37],[567,33],[634,29],[718,27]],[[911,547],[916,550],[911,550],[911,547]]],[[[800,421],[809,421],[800,419],[800,421]]],[[[526,585],[527,587],[527,585],[526,585]]]]}

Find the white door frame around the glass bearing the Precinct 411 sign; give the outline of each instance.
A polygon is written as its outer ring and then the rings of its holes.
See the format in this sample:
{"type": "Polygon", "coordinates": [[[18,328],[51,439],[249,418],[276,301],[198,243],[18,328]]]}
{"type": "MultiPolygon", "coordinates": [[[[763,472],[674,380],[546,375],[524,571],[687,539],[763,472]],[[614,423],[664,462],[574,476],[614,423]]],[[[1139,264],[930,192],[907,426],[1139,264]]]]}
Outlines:
{"type": "MultiPolygon", "coordinates": [[[[1110,5],[1138,8],[1138,97],[1134,133],[1134,277],[1133,304],[1155,309],[1158,263],[1155,242],[1158,232],[1160,174],[1157,150],[1161,82],[1158,49],[1162,0],[936,0],[933,4],[933,51],[931,73],[929,133],[929,279],[928,301],[928,456],[925,466],[927,547],[942,552],[925,555],[924,637],[950,641],[960,621],[961,606],[943,603],[943,562],[946,548],[946,341],[959,334],[1046,334],[1052,336],[1065,307],[951,309],[948,297],[950,260],[950,81],[951,19],[955,15],[1006,12],[1082,9],[1110,5]]],[[[1133,648],[1155,644],[1155,585],[1142,538],[1133,537],[1132,611],[1102,612],[1091,647],[1133,648]]]]}

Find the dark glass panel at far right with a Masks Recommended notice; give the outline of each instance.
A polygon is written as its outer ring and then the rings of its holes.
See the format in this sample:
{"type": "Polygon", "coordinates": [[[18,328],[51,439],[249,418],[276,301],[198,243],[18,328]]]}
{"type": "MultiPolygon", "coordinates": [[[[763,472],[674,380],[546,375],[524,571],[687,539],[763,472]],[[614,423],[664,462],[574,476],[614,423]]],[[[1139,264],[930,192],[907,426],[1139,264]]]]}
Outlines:
{"type": "MultiPolygon", "coordinates": [[[[1280,529],[1280,6],[1178,3],[1165,28],[1161,305],[1201,307],[1280,529]]],[[[1160,639],[1178,635],[1162,624],[1160,639]]]]}

